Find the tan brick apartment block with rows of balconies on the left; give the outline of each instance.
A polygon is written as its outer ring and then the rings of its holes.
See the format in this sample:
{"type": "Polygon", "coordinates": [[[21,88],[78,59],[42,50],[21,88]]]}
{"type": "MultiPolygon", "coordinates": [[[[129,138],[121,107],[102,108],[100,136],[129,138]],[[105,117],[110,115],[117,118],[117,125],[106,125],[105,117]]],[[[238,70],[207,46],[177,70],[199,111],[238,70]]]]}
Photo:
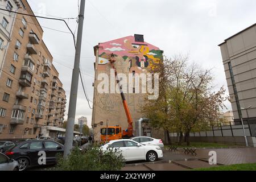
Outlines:
{"type": "MultiPolygon", "coordinates": [[[[4,2],[6,5],[11,1],[4,2]]],[[[19,13],[34,15],[26,0],[21,3],[19,13]]],[[[36,138],[46,133],[57,137],[63,133],[63,84],[42,40],[43,29],[38,20],[33,16],[13,16],[6,53],[1,57],[0,139],[36,138]]]]}

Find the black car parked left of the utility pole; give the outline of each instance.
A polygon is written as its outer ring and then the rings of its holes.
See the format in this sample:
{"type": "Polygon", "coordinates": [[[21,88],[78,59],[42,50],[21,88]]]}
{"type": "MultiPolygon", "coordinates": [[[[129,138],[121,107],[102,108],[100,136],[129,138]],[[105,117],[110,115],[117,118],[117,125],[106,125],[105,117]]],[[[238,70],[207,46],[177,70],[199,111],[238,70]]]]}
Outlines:
{"type": "Polygon", "coordinates": [[[56,155],[63,154],[64,146],[51,140],[29,140],[19,142],[8,151],[9,158],[18,161],[19,170],[23,171],[28,167],[42,166],[56,163],[56,155]],[[44,158],[45,154],[45,158],[44,158]]]}

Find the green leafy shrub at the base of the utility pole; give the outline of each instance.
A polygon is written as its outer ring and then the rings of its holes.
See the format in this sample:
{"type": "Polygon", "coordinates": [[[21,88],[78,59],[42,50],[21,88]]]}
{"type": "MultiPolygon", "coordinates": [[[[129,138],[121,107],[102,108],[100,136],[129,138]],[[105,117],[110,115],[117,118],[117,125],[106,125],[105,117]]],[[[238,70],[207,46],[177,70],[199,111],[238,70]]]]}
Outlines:
{"type": "Polygon", "coordinates": [[[118,171],[125,166],[125,159],[120,151],[108,148],[102,151],[100,146],[94,144],[80,150],[73,148],[67,158],[57,157],[56,170],[60,171],[118,171]]]}

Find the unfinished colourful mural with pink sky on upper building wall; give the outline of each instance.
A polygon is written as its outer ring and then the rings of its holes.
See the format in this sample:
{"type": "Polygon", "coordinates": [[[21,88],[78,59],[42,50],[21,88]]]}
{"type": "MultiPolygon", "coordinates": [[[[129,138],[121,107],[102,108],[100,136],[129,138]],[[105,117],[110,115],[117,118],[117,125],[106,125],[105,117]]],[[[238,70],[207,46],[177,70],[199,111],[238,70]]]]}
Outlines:
{"type": "Polygon", "coordinates": [[[139,69],[152,68],[162,59],[162,51],[146,42],[135,42],[134,36],[100,43],[98,64],[109,63],[109,55],[114,53],[117,65],[130,64],[139,69]],[[119,60],[119,61],[118,61],[119,60]]]}

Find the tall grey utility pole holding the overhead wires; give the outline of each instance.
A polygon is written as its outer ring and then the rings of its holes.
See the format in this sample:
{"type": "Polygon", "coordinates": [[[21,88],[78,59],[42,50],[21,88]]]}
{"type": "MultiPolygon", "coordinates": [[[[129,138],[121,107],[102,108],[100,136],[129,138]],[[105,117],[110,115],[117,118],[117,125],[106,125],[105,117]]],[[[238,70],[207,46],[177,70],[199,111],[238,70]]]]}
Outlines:
{"type": "Polygon", "coordinates": [[[71,91],[70,91],[69,107],[68,107],[68,122],[67,122],[66,134],[65,134],[64,158],[66,158],[70,154],[73,146],[77,90],[78,90],[78,84],[79,84],[79,65],[80,65],[81,44],[82,44],[82,28],[84,26],[84,9],[85,9],[85,0],[81,0],[80,13],[79,13],[79,26],[77,30],[77,40],[76,40],[76,55],[75,55],[73,73],[72,73],[71,91]]]}

